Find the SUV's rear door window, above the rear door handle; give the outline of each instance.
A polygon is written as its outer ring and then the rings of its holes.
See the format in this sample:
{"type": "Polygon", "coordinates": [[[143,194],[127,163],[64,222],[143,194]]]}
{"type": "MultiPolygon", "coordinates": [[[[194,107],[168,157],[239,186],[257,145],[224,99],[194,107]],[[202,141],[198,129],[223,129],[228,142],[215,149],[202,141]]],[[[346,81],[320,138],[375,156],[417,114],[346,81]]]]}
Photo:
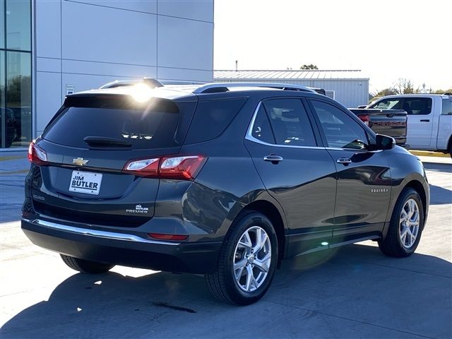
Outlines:
{"type": "Polygon", "coordinates": [[[268,100],[263,106],[278,145],[316,146],[314,132],[301,100],[268,100]]]}

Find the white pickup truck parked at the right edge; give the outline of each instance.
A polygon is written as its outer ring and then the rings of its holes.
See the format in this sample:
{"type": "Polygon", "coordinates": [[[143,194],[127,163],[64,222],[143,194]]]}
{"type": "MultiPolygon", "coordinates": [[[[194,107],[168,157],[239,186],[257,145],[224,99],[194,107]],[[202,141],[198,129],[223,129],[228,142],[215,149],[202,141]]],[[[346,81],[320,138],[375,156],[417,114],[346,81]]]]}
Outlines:
{"type": "Polygon", "coordinates": [[[408,113],[407,144],[413,150],[436,150],[452,157],[452,95],[388,95],[366,108],[403,109],[408,113]]]}

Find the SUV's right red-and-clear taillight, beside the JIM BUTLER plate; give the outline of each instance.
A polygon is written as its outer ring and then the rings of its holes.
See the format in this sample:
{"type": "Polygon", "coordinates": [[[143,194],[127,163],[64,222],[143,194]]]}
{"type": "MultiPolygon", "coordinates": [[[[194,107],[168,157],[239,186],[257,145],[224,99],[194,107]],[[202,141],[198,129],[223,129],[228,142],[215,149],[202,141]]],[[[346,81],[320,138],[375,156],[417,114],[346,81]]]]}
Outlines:
{"type": "Polygon", "coordinates": [[[193,180],[206,159],[203,155],[181,155],[130,160],[123,172],[147,178],[193,180]]]}

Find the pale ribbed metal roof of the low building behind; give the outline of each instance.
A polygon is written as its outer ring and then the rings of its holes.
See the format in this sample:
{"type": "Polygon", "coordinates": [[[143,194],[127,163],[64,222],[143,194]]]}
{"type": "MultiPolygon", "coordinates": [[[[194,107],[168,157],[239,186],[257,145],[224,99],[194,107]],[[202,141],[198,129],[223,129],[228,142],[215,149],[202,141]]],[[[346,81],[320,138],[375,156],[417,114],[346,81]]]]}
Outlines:
{"type": "Polygon", "coordinates": [[[219,70],[213,71],[213,79],[219,80],[271,80],[271,79],[301,79],[301,80],[369,80],[363,76],[360,69],[328,69],[328,70],[268,70],[268,71],[227,71],[219,70]]]}

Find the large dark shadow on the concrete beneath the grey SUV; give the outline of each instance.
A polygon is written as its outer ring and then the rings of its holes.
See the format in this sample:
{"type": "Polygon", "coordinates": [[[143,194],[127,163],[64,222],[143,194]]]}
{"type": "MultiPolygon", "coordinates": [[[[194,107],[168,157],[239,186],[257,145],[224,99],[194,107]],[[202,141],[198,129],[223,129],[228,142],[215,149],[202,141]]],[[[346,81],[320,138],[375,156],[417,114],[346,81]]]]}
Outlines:
{"type": "Polygon", "coordinates": [[[310,338],[376,338],[394,336],[398,332],[385,331],[396,328],[450,338],[451,278],[452,265],[441,258],[393,259],[362,244],[283,261],[263,301],[249,307],[215,301],[200,275],[78,273],[47,301],[13,316],[0,335],[230,338],[255,331],[261,338],[286,338],[298,328],[310,338]]]}

